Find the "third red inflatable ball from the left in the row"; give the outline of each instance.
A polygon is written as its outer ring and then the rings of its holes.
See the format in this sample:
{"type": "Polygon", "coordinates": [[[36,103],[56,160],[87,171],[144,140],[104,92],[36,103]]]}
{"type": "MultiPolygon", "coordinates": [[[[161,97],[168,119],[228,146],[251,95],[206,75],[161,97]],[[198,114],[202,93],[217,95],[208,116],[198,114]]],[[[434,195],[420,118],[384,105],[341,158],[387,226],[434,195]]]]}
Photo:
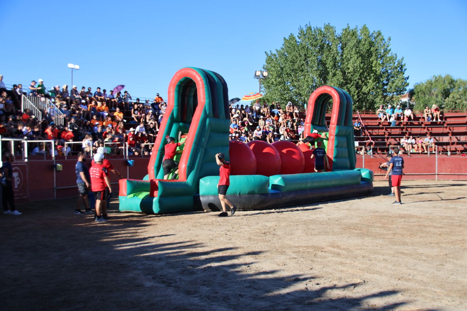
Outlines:
{"type": "Polygon", "coordinates": [[[272,143],[281,156],[281,174],[303,173],[305,158],[297,145],[288,140],[279,140],[272,143]]]}

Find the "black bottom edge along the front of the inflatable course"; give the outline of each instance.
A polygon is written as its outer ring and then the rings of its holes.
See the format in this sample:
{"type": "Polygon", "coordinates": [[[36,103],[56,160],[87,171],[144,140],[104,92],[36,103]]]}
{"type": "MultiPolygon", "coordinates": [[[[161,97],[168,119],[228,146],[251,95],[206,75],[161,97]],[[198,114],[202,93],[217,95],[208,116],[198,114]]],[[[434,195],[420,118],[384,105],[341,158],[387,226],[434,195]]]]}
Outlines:
{"type": "MultiPolygon", "coordinates": [[[[356,185],[336,186],[328,188],[307,189],[286,192],[271,192],[268,194],[237,194],[226,195],[226,198],[237,207],[237,210],[262,210],[306,203],[339,200],[370,194],[373,183],[362,182],[356,185]]],[[[194,210],[219,211],[221,210],[217,195],[195,195],[194,210]]]]}

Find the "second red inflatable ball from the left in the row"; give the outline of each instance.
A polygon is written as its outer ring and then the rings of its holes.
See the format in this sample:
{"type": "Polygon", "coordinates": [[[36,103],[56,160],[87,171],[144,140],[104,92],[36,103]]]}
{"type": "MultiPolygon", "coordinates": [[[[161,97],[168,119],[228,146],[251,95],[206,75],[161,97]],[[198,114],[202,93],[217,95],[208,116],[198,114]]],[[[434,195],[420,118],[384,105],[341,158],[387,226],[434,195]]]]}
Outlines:
{"type": "Polygon", "coordinates": [[[272,176],[281,173],[281,157],[276,148],[262,140],[247,143],[256,158],[256,174],[272,176]]]}

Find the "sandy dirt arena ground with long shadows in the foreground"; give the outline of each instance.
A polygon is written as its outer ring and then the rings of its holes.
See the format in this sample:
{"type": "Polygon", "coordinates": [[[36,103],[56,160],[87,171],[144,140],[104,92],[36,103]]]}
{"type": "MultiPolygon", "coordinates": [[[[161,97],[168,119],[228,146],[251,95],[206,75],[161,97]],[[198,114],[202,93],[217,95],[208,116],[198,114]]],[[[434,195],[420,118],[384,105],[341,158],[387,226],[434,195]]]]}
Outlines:
{"type": "Polygon", "coordinates": [[[0,215],[2,310],[467,310],[467,182],[265,211],[0,215]]]}

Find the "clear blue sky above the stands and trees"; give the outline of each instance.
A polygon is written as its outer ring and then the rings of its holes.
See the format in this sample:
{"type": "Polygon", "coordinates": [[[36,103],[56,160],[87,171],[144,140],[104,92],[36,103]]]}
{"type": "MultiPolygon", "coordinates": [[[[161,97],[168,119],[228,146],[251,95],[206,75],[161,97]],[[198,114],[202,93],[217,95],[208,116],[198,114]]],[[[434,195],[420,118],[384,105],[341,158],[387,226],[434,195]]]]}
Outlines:
{"type": "Polygon", "coordinates": [[[222,75],[229,98],[258,90],[265,51],[310,23],[381,30],[406,63],[409,83],[467,79],[467,1],[2,1],[0,74],[6,84],[42,78],[164,99],[185,66],[222,75]]]}

